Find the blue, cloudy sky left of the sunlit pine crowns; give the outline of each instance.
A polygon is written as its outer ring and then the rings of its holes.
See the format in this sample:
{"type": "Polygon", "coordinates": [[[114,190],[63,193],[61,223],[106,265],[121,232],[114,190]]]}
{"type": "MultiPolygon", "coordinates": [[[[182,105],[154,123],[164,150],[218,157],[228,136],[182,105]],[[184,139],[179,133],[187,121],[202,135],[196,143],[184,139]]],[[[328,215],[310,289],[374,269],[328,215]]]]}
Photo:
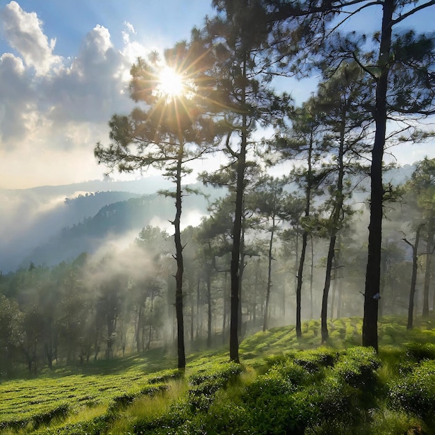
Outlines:
{"type": "MultiPolygon", "coordinates": [[[[133,107],[131,64],[188,39],[212,13],[209,0],[0,0],[0,188],[101,179],[93,149],[109,142],[110,116],[133,107]]],[[[420,20],[433,26],[429,15],[420,20]]],[[[291,88],[301,99],[315,78],[291,88]]],[[[406,164],[435,152],[395,155],[406,164]]]]}

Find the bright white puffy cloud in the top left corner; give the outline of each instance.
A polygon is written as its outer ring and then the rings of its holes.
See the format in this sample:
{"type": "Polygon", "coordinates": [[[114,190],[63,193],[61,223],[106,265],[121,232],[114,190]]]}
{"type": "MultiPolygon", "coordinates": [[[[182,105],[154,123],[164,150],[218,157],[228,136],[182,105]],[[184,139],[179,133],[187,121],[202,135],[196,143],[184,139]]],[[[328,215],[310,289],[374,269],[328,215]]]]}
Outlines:
{"type": "Polygon", "coordinates": [[[10,47],[19,52],[28,67],[35,68],[37,76],[47,74],[60,62],[60,57],[53,54],[56,40],[49,42],[35,13],[26,13],[11,1],[0,11],[0,24],[10,47]]]}

